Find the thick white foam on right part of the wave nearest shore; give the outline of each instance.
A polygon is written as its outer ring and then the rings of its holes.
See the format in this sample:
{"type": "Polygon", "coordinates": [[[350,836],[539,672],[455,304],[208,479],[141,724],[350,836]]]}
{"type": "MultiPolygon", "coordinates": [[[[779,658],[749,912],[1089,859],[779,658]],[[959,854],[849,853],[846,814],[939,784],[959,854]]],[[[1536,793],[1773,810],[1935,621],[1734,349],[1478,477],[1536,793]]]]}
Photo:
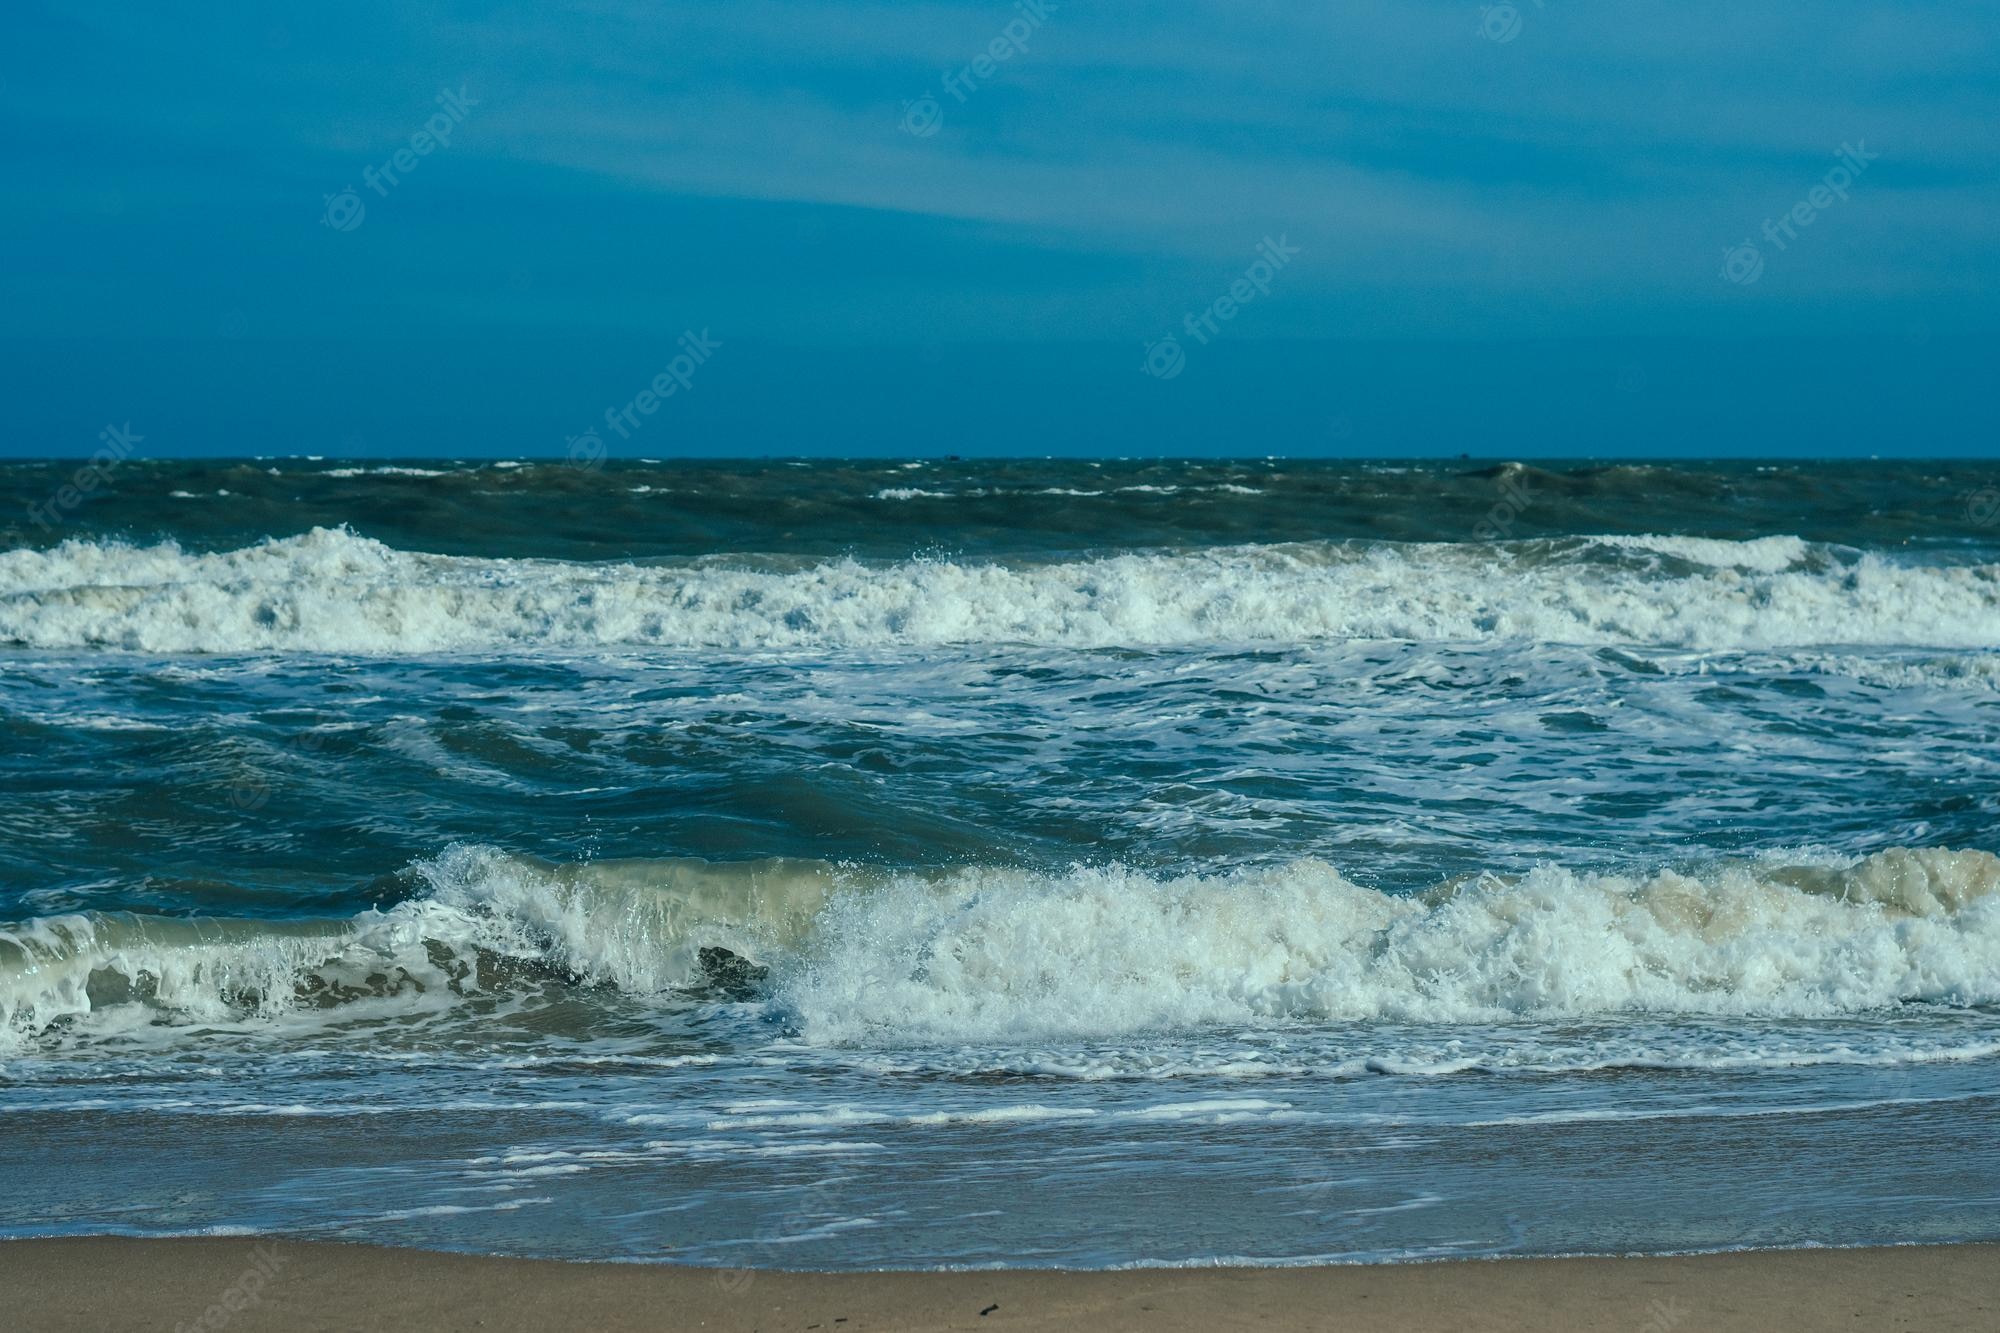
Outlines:
{"type": "Polygon", "coordinates": [[[1318,861],[988,869],[834,897],[780,997],[822,1043],[1972,1005],[2000,1001],[1996,887],[2000,859],[1950,851],[1704,879],[1542,867],[1410,899],[1318,861]]]}

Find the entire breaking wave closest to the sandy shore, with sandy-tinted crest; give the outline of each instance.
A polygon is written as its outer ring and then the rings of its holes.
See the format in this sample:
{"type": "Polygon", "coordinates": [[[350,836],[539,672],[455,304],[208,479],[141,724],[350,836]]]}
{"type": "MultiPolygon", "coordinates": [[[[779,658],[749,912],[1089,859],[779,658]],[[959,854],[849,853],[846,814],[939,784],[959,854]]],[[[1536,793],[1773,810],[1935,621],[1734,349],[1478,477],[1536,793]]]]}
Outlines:
{"type": "Polygon", "coordinates": [[[2000,1003],[2000,857],[1894,849],[1702,875],[1540,867],[1414,897],[1322,861],[1180,879],[556,867],[454,847],[348,921],[70,915],[0,931],[0,1031],[464,1009],[524,985],[762,1005],[816,1045],[1268,1021],[1814,1019],[2000,1003]]]}

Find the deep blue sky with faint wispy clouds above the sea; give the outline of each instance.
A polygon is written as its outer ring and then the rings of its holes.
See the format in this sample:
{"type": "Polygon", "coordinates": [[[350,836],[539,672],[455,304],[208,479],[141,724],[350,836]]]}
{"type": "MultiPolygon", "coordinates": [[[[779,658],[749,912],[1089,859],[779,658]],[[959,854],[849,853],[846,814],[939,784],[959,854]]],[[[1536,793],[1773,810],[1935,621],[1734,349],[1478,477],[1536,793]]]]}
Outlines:
{"type": "Polygon", "coordinates": [[[654,454],[1992,452],[1996,38],[1972,2],[16,0],[0,448],[560,450],[706,328],[654,454]]]}

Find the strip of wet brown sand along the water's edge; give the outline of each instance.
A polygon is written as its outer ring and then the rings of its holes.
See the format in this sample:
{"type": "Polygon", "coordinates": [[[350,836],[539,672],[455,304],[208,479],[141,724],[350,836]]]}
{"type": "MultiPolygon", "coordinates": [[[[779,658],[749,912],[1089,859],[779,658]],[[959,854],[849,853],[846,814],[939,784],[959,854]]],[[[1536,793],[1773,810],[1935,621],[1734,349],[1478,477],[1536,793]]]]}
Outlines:
{"type": "Polygon", "coordinates": [[[2000,1245],[1120,1273],[768,1273],[284,1239],[0,1243],[16,1329],[1990,1329],[2000,1245]]]}

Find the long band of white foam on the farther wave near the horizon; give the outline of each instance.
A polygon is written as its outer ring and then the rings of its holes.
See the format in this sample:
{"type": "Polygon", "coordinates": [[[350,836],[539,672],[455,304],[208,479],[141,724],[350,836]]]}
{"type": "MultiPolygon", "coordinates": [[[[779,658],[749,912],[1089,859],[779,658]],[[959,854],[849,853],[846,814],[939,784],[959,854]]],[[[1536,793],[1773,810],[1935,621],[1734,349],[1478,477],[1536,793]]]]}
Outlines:
{"type": "Polygon", "coordinates": [[[314,528],[230,552],[0,554],[0,640],[140,652],[1168,646],[1402,638],[1694,650],[2000,646],[2000,564],[1798,538],[1294,544],[1048,564],[576,564],[314,528]],[[1660,556],[1672,556],[1670,566],[1660,556]]]}

